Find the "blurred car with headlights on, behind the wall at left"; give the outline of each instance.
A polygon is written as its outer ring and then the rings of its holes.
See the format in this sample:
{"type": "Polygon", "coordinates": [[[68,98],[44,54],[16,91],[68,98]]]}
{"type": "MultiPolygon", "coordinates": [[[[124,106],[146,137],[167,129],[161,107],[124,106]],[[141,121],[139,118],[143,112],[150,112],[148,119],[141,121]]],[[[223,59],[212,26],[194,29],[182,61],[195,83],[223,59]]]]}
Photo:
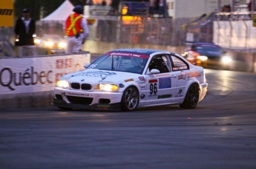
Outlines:
{"type": "Polygon", "coordinates": [[[65,52],[67,42],[60,35],[43,35],[40,39],[34,39],[35,44],[39,47],[50,49],[52,53],[65,52]]]}

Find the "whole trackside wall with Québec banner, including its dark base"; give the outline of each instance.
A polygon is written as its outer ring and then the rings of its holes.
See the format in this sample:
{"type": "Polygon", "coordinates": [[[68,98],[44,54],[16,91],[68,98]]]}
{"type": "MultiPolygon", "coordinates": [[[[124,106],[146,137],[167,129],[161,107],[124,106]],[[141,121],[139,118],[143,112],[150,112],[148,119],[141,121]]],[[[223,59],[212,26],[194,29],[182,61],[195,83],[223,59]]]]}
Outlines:
{"type": "Polygon", "coordinates": [[[50,106],[56,80],[85,69],[91,54],[0,58],[0,108],[50,106]]]}

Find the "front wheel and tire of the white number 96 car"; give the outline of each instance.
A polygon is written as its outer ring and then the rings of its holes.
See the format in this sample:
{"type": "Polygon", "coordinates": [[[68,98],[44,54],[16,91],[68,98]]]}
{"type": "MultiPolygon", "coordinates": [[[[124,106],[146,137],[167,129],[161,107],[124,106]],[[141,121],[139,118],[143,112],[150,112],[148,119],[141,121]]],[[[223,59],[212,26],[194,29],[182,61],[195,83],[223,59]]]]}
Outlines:
{"type": "Polygon", "coordinates": [[[136,87],[130,86],[122,94],[121,108],[122,111],[134,111],[139,105],[139,92],[136,87]]]}

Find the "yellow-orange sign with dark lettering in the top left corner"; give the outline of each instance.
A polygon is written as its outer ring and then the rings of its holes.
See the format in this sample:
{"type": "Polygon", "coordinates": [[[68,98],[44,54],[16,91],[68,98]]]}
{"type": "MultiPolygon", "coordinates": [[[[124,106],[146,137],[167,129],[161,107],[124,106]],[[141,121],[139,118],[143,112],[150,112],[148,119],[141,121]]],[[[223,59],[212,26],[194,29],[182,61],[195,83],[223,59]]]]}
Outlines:
{"type": "Polygon", "coordinates": [[[0,0],[0,27],[13,27],[13,0],[0,0]]]}

